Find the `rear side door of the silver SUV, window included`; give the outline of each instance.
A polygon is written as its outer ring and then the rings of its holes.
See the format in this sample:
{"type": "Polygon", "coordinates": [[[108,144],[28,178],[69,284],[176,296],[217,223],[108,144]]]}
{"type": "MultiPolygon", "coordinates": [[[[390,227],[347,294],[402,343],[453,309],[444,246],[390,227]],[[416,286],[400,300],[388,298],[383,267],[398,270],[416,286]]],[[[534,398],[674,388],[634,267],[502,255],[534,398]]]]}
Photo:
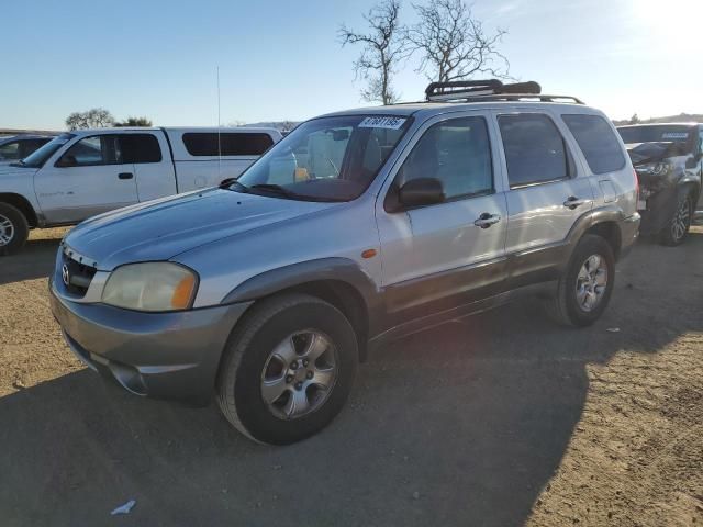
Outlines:
{"type": "MultiPolygon", "coordinates": [[[[547,112],[495,112],[507,177],[506,255],[520,282],[549,279],[561,246],[579,216],[593,206],[593,192],[577,165],[562,123],[547,112]]],[[[512,283],[520,285],[520,283],[512,283]]]]}

